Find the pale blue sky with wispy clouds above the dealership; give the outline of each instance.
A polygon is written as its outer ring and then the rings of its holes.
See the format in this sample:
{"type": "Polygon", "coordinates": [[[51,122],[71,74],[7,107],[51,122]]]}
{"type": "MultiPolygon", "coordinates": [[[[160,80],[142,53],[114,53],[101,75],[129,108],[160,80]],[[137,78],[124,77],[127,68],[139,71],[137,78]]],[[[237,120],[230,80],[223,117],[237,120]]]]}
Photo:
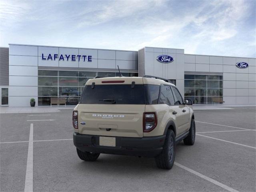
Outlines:
{"type": "Polygon", "coordinates": [[[0,46],[256,57],[256,0],[0,0],[0,46]]]}

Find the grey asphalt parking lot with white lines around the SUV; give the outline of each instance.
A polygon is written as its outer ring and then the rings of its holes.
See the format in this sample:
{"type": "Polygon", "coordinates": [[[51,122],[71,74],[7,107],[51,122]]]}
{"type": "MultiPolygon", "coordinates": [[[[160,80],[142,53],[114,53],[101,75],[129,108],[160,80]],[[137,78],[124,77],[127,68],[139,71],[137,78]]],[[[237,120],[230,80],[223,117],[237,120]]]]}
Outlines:
{"type": "Polygon", "coordinates": [[[0,114],[0,190],[256,190],[256,108],[195,110],[196,142],[176,147],[175,165],[101,154],[83,162],[72,140],[72,110],[0,114]]]}

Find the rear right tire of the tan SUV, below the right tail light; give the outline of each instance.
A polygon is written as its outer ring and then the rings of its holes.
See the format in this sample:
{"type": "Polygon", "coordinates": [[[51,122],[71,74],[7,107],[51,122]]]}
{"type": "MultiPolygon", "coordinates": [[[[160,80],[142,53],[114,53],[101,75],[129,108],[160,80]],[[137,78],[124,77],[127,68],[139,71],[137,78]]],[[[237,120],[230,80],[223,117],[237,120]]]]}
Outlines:
{"type": "Polygon", "coordinates": [[[171,169],[175,159],[175,134],[168,130],[162,152],[155,157],[156,166],[161,169],[171,169]]]}

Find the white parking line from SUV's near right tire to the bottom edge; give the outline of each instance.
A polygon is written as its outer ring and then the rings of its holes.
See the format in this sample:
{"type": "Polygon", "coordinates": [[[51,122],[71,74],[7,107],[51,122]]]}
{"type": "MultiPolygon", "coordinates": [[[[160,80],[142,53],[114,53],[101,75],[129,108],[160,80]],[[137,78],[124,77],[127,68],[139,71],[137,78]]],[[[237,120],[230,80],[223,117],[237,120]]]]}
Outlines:
{"type": "Polygon", "coordinates": [[[235,189],[233,189],[233,188],[231,188],[229,186],[226,186],[226,185],[224,185],[224,184],[222,184],[222,183],[220,183],[220,182],[218,182],[218,181],[216,181],[216,180],[214,180],[214,179],[212,179],[210,177],[207,177],[207,176],[205,176],[205,175],[203,175],[203,174],[201,174],[199,172],[196,172],[196,171],[194,171],[194,170],[192,170],[192,169],[190,169],[188,167],[185,167],[185,166],[183,166],[183,165],[181,165],[179,163],[174,162],[174,165],[176,165],[176,166],[178,166],[178,167],[180,167],[180,168],[182,168],[182,169],[184,169],[184,170],[186,170],[186,171],[188,171],[188,172],[190,172],[192,174],[195,174],[196,176],[198,176],[200,178],[203,178],[203,179],[205,179],[205,180],[207,180],[207,181],[209,181],[209,182],[211,182],[211,183],[213,183],[213,184],[215,184],[217,186],[220,186],[221,188],[226,189],[226,190],[228,190],[230,192],[238,192],[237,190],[235,190],[235,189]]]}

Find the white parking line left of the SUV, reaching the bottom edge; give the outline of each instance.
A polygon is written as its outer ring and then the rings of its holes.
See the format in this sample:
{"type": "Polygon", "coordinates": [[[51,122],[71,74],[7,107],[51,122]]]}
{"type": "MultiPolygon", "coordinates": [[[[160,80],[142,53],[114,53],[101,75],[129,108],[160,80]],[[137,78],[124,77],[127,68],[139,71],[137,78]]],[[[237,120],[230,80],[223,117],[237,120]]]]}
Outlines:
{"type": "Polygon", "coordinates": [[[26,168],[26,178],[24,192],[33,191],[33,124],[30,124],[29,141],[28,141],[28,158],[26,168]]]}

